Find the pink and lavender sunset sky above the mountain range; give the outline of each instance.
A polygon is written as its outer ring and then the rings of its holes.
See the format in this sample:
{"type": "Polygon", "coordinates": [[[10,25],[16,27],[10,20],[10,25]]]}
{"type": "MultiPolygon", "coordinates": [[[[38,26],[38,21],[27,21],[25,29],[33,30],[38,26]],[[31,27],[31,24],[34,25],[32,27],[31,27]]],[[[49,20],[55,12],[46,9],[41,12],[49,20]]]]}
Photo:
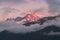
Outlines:
{"type": "Polygon", "coordinates": [[[60,0],[0,0],[0,20],[38,12],[44,16],[60,13],[60,0]]]}

